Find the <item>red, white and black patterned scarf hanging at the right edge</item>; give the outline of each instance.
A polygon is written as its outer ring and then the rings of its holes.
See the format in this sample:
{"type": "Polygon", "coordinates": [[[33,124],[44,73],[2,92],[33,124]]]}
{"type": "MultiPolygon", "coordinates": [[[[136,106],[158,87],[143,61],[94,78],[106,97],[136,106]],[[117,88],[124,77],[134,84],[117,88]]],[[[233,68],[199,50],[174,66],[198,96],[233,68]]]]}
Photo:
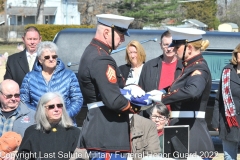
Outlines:
{"type": "Polygon", "coordinates": [[[222,74],[222,95],[225,109],[225,116],[229,127],[239,127],[236,117],[236,107],[233,101],[232,92],[230,88],[230,71],[231,69],[224,69],[222,74]]]}

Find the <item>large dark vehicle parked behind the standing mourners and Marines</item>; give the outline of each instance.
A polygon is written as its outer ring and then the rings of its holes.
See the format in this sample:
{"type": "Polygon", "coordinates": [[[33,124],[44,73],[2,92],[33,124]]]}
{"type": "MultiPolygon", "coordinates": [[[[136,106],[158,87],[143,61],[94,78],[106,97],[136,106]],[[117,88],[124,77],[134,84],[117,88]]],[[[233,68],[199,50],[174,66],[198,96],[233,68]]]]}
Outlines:
{"type": "MultiPolygon", "coordinates": [[[[113,51],[113,58],[118,65],[125,64],[125,46],[131,40],[138,40],[142,43],[146,54],[147,60],[155,58],[162,54],[159,45],[161,34],[165,30],[139,30],[130,29],[130,37],[125,37],[125,42],[118,50],[113,51]],[[157,42],[157,43],[154,43],[157,42]],[[122,48],[121,48],[122,47],[122,48]]],[[[78,70],[78,64],[81,55],[94,37],[95,29],[64,29],[56,34],[54,42],[59,47],[59,57],[63,60],[66,67],[73,70],[75,73],[78,70]]],[[[208,106],[206,110],[206,121],[211,134],[213,132],[211,127],[212,112],[214,106],[214,99],[218,90],[219,78],[222,68],[229,63],[233,49],[240,43],[240,33],[237,32],[207,32],[203,35],[203,39],[208,39],[210,45],[208,49],[202,52],[206,59],[212,75],[212,88],[209,96],[208,106]]],[[[82,125],[85,118],[87,108],[83,107],[77,117],[78,126],[82,125]]]]}

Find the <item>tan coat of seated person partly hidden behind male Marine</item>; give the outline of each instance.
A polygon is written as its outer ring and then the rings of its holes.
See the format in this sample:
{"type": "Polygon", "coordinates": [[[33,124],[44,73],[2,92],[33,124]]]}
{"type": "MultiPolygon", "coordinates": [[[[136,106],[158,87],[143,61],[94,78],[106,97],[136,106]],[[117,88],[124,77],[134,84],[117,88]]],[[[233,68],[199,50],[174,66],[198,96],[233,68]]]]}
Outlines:
{"type": "Polygon", "coordinates": [[[131,121],[131,152],[134,160],[140,160],[144,155],[160,153],[160,142],[155,123],[137,114],[133,115],[131,121]]]}

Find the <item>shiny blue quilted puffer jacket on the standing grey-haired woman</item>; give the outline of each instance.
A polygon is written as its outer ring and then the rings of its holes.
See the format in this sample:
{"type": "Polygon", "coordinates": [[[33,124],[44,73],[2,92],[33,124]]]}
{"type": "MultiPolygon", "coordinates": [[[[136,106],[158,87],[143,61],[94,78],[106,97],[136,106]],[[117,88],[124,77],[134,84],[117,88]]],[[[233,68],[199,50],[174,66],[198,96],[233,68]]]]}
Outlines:
{"type": "Polygon", "coordinates": [[[83,104],[82,92],[74,72],[65,68],[63,62],[58,58],[57,67],[48,84],[42,75],[41,64],[35,63],[34,69],[27,73],[23,79],[20,94],[21,100],[26,105],[36,110],[41,96],[47,92],[59,92],[62,94],[67,112],[74,120],[83,104]]]}

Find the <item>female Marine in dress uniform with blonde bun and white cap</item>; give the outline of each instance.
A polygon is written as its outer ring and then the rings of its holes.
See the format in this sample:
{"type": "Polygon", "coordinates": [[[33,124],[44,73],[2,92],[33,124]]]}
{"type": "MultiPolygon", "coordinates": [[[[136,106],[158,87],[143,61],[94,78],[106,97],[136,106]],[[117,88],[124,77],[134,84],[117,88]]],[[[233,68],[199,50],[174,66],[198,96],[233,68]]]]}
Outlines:
{"type": "Polygon", "coordinates": [[[199,29],[169,27],[169,31],[173,36],[169,47],[174,47],[178,58],[183,60],[184,68],[167,93],[159,91],[159,95],[149,98],[155,102],[162,101],[165,105],[170,104],[170,125],[189,125],[190,154],[211,159],[215,156],[215,151],[205,121],[205,111],[212,78],[201,54],[209,41],[202,40],[202,34],[206,32],[199,29]]]}

